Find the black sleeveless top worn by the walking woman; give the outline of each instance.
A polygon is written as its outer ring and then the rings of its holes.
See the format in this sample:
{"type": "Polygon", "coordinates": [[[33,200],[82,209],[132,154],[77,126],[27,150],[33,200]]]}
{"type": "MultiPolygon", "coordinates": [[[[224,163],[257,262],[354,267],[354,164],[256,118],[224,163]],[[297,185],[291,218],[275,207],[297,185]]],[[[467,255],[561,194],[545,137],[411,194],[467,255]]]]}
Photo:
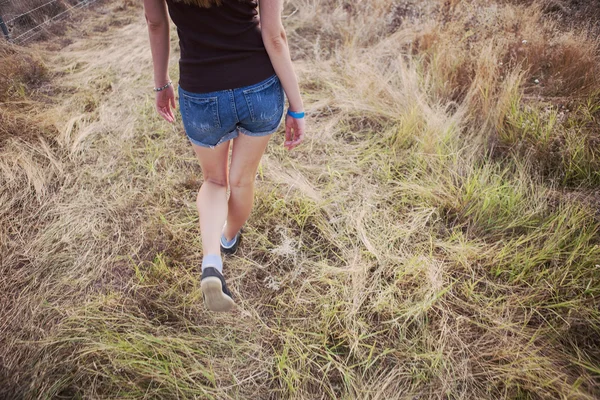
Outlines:
{"type": "Polygon", "coordinates": [[[166,1],[179,35],[184,90],[235,89],[275,73],[260,33],[257,0],[223,0],[210,8],[166,1]]]}

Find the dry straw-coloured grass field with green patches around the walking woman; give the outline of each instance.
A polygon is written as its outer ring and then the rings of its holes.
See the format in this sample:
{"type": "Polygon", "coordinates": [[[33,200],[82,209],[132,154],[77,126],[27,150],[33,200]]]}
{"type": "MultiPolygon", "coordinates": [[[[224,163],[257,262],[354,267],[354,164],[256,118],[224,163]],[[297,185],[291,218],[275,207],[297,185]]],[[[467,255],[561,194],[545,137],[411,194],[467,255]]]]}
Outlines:
{"type": "Polygon", "coordinates": [[[269,145],[231,314],[139,4],[1,45],[0,398],[599,398],[600,7],[285,4],[309,134],[269,145]]]}

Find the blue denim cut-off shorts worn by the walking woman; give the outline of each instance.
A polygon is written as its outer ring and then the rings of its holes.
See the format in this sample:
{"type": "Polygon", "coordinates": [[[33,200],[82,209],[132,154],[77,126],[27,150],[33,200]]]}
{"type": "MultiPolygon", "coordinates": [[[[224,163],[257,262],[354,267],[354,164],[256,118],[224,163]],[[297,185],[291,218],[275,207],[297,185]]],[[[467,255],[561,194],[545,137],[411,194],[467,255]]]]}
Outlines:
{"type": "Polygon", "coordinates": [[[274,133],[281,123],[284,92],[277,75],[237,89],[190,93],[179,87],[183,127],[193,144],[213,148],[234,139],[274,133]]]}

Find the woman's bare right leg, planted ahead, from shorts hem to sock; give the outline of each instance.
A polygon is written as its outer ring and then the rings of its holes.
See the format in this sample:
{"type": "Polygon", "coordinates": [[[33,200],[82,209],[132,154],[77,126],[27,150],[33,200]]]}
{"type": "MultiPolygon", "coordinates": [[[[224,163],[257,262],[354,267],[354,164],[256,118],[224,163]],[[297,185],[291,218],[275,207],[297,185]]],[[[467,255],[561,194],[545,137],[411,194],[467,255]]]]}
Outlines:
{"type": "Polygon", "coordinates": [[[231,240],[241,229],[254,204],[254,181],[260,159],[273,135],[248,136],[240,133],[233,139],[231,168],[229,170],[229,195],[225,239],[231,240]]]}

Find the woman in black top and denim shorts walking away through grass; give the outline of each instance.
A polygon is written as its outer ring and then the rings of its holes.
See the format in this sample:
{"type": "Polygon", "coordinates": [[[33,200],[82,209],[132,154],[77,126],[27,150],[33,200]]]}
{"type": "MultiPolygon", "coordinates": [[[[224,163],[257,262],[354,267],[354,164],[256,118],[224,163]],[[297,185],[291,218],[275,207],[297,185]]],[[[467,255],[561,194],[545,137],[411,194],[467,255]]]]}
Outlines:
{"type": "Polygon", "coordinates": [[[204,176],[196,205],[203,250],[201,288],[212,311],[234,306],[221,252],[235,252],[240,242],[252,209],[258,164],[281,123],[284,91],[289,101],[284,146],[291,150],[304,139],[304,105],[281,23],[282,2],[144,0],[156,109],[169,122],[175,120],[175,91],[168,76],[168,15],[177,26],[179,106],[204,176]]]}

